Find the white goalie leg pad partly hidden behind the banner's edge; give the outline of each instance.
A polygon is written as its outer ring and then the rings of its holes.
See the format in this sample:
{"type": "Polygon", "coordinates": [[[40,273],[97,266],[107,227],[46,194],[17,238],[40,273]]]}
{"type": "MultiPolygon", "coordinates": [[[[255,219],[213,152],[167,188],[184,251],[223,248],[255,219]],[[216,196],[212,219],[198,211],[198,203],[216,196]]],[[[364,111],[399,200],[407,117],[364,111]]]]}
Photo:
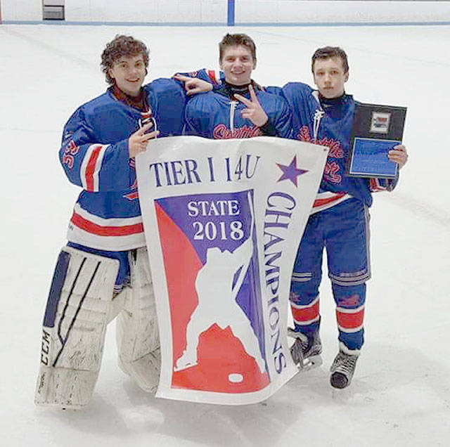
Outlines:
{"type": "Polygon", "coordinates": [[[131,290],[116,325],[120,368],[153,392],[160,378],[160,336],[147,249],[130,253],[131,290]]]}

